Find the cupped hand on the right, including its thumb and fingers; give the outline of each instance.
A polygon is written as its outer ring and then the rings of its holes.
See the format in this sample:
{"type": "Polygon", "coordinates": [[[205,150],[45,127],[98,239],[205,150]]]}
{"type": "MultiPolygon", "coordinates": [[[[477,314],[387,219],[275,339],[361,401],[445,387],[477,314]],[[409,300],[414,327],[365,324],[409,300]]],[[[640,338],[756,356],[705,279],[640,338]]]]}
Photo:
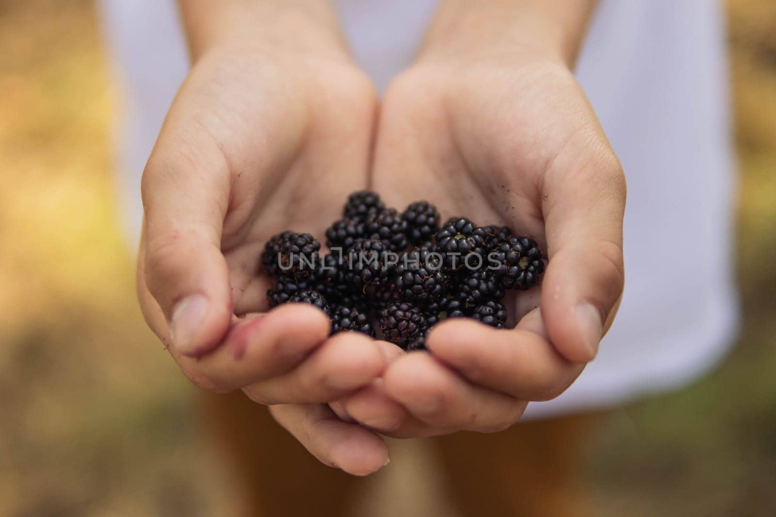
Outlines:
{"type": "Polygon", "coordinates": [[[523,50],[421,57],[386,92],[372,175],[389,205],[505,224],[549,264],[540,288],[508,292],[514,329],[445,321],[338,414],[397,437],[493,432],[563,393],[624,282],[625,179],[568,66],[523,50]]]}

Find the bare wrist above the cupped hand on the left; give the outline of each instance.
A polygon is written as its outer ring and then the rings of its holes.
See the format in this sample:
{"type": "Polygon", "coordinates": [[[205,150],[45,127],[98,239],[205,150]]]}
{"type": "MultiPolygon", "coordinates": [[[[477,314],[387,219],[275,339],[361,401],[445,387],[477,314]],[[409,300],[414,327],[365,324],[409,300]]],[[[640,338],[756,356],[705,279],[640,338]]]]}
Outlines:
{"type": "Polygon", "coordinates": [[[331,5],[324,1],[179,0],[192,61],[210,50],[282,50],[348,58],[331,5]]]}

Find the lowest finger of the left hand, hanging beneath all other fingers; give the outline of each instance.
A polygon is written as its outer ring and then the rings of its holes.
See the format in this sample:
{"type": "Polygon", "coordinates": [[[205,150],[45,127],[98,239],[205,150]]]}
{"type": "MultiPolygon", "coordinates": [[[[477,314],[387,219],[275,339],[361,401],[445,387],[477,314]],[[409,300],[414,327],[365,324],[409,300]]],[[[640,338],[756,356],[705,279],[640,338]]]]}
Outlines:
{"type": "Polygon", "coordinates": [[[321,404],[270,406],[275,420],[329,467],[365,476],[388,464],[388,446],[375,432],[342,422],[321,404]]]}

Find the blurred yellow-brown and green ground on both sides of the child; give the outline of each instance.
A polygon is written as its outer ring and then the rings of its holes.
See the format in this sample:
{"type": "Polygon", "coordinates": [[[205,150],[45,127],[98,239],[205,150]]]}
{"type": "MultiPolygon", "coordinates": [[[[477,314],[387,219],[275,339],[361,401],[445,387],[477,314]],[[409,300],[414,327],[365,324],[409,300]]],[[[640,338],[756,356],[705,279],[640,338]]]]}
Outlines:
{"type": "MultiPolygon", "coordinates": [[[[729,13],[740,343],[606,419],[591,515],[776,515],[776,3],[729,13]]],[[[195,392],[133,298],[96,22],[87,0],[0,0],[0,515],[230,515],[195,392]]]]}

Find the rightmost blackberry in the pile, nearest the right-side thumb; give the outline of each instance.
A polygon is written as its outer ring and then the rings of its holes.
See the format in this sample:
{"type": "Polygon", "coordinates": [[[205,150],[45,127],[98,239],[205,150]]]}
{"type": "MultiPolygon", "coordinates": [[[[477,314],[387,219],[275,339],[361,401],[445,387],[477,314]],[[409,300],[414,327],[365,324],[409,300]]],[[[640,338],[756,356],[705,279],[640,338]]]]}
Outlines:
{"type": "Polygon", "coordinates": [[[494,271],[505,289],[528,290],[539,283],[545,266],[532,238],[510,237],[501,241],[494,253],[494,259],[501,263],[494,271]]]}

